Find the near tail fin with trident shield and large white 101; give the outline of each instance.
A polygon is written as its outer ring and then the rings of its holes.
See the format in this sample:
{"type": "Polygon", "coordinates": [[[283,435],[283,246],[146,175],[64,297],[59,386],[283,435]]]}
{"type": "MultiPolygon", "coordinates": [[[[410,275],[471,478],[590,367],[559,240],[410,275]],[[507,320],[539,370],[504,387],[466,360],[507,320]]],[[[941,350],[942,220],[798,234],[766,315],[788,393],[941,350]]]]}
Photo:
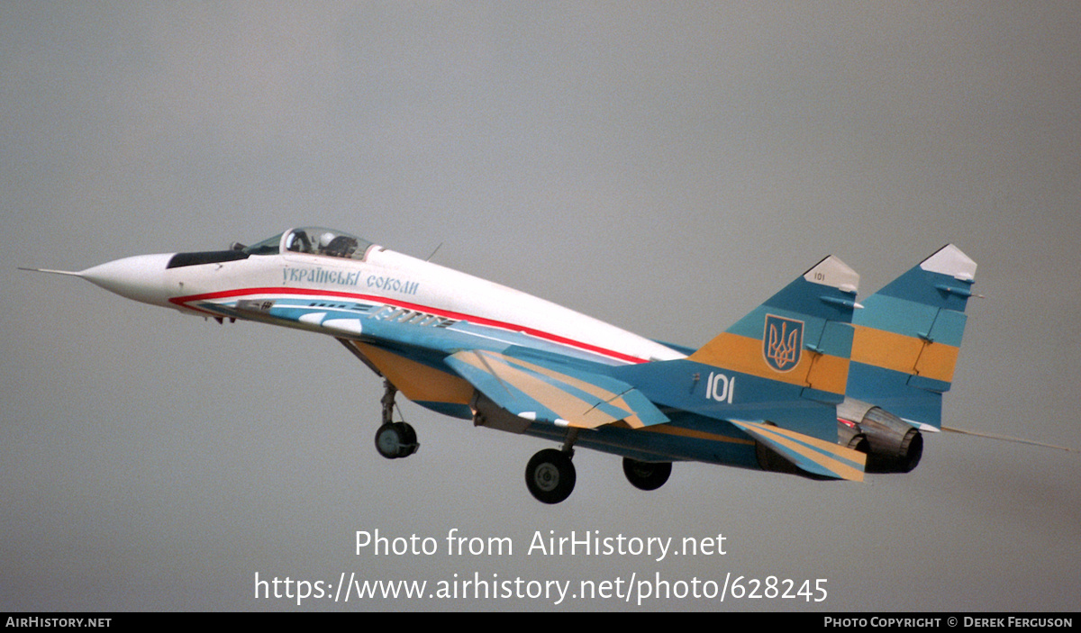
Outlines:
{"type": "Polygon", "coordinates": [[[689,358],[615,375],[664,406],[836,442],[858,284],[827,257],[689,358]]]}

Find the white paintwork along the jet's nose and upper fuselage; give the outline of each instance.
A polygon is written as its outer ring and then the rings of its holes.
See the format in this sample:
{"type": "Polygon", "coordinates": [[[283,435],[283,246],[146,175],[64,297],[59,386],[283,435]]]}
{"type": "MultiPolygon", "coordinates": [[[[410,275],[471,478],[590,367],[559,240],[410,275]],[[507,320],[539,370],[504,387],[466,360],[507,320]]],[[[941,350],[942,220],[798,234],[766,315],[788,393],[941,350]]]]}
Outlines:
{"type": "MultiPolygon", "coordinates": [[[[170,299],[245,288],[254,291],[243,295],[243,298],[250,299],[257,299],[261,295],[281,296],[281,289],[286,287],[324,289],[363,295],[419,312],[471,320],[511,332],[535,334],[547,341],[565,340],[572,347],[600,353],[612,362],[684,358],[684,354],[664,345],[551,301],[377,246],[368,250],[365,260],[285,252],[166,269],[173,255],[128,257],[95,266],[79,275],[118,295],[186,313],[193,311],[170,299]],[[333,271],[333,279],[337,281],[294,281],[290,273],[297,269],[333,271]],[[344,274],[353,275],[349,278],[353,280],[351,284],[341,283],[343,277],[339,275],[344,274]],[[379,280],[386,279],[395,280],[399,288],[408,291],[381,287],[379,280]],[[261,293],[258,288],[266,291],[261,293]]],[[[238,298],[233,295],[219,300],[236,301],[238,298]]],[[[209,300],[218,299],[212,297],[209,300]]],[[[360,321],[344,319],[324,322],[325,316],[325,313],[307,314],[302,322],[346,334],[360,334],[360,321]]]]}

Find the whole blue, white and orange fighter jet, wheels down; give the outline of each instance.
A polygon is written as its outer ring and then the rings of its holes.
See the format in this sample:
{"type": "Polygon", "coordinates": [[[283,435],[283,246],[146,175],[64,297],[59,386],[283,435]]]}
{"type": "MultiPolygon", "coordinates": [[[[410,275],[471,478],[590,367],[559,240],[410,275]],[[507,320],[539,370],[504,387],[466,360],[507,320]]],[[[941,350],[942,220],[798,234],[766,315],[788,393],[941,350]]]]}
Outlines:
{"type": "Polygon", "coordinates": [[[224,322],[328,334],[384,379],[375,447],[416,452],[395,396],[552,440],[525,484],[570,496],[575,446],[623,457],[638,488],[672,461],[862,481],[908,472],[940,427],[976,265],[947,245],[865,300],[826,257],[697,349],[319,227],[227,251],[138,255],[81,272],[123,297],[224,322]],[[890,413],[893,412],[893,413],[890,413]]]}

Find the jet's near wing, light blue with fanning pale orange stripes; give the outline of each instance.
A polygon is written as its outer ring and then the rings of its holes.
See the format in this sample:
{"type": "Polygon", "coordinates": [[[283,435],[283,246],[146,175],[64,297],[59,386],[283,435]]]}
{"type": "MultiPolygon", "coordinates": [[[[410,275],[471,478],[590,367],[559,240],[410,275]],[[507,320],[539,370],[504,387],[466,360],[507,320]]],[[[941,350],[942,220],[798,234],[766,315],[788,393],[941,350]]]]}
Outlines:
{"type": "Polygon", "coordinates": [[[552,360],[465,350],[445,363],[494,403],[528,420],[579,429],[618,421],[631,428],[668,421],[630,385],[552,360]]]}

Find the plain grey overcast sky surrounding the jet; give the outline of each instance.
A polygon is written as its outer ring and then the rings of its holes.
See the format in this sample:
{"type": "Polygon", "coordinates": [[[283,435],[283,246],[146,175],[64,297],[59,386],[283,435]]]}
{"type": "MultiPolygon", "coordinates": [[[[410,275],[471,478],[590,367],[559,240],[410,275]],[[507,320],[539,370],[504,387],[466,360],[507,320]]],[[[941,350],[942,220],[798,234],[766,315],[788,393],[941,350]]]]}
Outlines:
{"type": "MultiPolygon", "coordinates": [[[[1076,2],[0,4],[0,609],[635,609],[615,600],[256,601],[261,578],[827,579],[828,598],[649,609],[1076,610],[1081,457],[927,439],[908,475],[676,464],[404,404],[330,338],[218,326],[17,266],[319,224],[702,345],[836,254],[870,293],[979,264],[948,426],[1081,448],[1076,2]],[[356,530],[508,537],[360,556],[356,530]],[[723,556],[538,556],[540,531],[723,556]]],[[[731,598],[730,598],[731,601],[731,598]]]]}

